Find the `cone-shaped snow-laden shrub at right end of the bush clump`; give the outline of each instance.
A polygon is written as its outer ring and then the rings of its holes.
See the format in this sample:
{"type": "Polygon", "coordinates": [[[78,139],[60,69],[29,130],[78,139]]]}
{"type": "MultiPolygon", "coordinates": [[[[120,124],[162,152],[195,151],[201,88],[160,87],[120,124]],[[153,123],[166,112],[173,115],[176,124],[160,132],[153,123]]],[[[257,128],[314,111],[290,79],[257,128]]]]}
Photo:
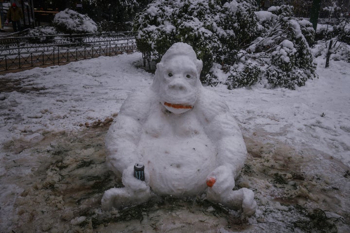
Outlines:
{"type": "MultiPolygon", "coordinates": [[[[267,63],[270,66],[266,76],[273,87],[295,89],[296,86],[305,85],[308,79],[317,77],[314,58],[303,34],[306,32],[310,35],[313,29],[303,20],[293,17],[290,6],[270,7],[268,10],[278,14],[277,17],[271,17],[274,26],[262,30],[264,33],[261,38],[250,48],[255,49],[255,52],[262,51],[264,56],[269,52],[270,62],[267,63]]],[[[271,25],[271,22],[267,25],[271,25]]]]}

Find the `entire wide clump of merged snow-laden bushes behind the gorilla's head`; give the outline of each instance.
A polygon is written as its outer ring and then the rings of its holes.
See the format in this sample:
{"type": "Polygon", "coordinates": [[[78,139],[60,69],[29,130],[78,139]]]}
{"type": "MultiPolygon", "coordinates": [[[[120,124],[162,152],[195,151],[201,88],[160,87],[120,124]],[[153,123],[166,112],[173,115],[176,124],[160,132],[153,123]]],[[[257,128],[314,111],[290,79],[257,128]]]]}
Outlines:
{"type": "Polygon", "coordinates": [[[173,43],[186,42],[203,61],[201,81],[228,88],[265,75],[269,86],[294,89],[316,77],[312,24],[293,17],[291,6],[254,10],[254,0],[156,0],[134,22],[138,49],[159,60],[173,43]],[[231,67],[226,81],[210,71],[213,63],[231,67]]]}

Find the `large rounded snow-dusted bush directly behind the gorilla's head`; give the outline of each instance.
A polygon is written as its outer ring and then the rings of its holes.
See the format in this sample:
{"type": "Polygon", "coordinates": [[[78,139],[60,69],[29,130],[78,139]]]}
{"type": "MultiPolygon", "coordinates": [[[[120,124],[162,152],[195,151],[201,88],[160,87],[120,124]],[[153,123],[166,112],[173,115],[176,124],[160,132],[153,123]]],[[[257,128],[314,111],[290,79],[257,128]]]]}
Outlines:
{"type": "Polygon", "coordinates": [[[213,62],[233,64],[256,27],[251,5],[235,0],[224,7],[219,0],[157,0],[134,22],[138,49],[157,54],[157,60],[175,42],[190,44],[203,61],[202,81],[213,62]]]}

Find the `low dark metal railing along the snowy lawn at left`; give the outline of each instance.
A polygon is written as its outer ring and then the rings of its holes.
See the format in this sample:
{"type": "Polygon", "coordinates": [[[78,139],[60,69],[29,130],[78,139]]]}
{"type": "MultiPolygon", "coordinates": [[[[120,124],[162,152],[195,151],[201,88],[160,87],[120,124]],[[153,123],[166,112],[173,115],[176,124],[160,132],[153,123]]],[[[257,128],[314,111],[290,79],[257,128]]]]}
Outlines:
{"type": "Polygon", "coordinates": [[[131,32],[0,38],[0,71],[60,65],[135,50],[131,32]]]}

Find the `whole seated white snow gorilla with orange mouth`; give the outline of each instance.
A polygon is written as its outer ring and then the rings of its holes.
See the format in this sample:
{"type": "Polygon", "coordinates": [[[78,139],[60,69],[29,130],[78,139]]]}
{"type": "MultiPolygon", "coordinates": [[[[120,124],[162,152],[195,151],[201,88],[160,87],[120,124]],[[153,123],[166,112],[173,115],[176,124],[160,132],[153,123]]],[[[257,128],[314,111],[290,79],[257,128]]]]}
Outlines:
{"type": "Polygon", "coordinates": [[[125,187],[105,192],[102,207],[140,204],[153,195],[207,194],[229,208],[255,212],[251,190],[233,191],[246,148],[226,103],[199,80],[202,61],[192,47],[175,43],[157,64],[150,88],[131,94],[111,125],[107,162],[125,187]],[[144,164],[145,181],[134,177],[144,164]]]}

